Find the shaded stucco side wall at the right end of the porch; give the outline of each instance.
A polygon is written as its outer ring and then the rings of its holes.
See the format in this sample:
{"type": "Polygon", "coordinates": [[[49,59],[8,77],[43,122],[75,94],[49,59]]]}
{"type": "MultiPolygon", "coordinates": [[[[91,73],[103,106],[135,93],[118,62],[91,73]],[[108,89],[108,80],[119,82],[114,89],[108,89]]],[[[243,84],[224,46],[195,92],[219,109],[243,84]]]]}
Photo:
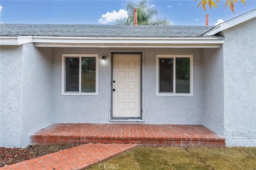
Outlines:
{"type": "Polygon", "coordinates": [[[224,136],[223,46],[203,50],[204,103],[202,124],[224,136]]]}

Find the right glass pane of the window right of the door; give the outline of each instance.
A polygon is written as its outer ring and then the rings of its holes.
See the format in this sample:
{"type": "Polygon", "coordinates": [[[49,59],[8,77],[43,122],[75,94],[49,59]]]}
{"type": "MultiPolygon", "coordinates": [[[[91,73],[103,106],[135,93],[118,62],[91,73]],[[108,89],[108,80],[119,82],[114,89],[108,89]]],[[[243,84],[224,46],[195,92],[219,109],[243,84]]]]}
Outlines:
{"type": "Polygon", "coordinates": [[[190,58],[176,58],[176,93],[190,93],[190,58]]]}

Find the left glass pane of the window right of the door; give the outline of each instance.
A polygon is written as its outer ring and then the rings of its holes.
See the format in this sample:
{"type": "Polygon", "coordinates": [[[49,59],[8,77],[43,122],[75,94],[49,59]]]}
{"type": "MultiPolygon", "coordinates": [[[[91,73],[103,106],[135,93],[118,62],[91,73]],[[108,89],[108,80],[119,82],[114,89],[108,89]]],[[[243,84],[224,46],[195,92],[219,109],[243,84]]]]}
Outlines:
{"type": "Polygon", "coordinates": [[[159,92],[173,92],[173,58],[159,58],[159,92]]]}

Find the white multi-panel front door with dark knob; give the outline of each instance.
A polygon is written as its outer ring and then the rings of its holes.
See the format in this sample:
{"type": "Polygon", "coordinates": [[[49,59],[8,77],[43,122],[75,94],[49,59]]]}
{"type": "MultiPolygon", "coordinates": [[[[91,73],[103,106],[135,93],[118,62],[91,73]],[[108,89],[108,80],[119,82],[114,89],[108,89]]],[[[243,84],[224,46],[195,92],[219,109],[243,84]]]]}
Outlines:
{"type": "Polygon", "coordinates": [[[140,55],[113,54],[112,117],[140,117],[140,55]]]}

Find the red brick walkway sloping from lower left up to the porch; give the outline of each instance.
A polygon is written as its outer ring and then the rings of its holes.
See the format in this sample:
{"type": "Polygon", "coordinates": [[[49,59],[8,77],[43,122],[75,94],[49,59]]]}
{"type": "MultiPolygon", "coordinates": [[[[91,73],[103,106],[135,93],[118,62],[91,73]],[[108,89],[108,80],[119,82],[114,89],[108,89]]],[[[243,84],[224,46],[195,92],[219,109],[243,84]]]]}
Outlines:
{"type": "Polygon", "coordinates": [[[80,170],[137,146],[138,144],[88,143],[2,167],[0,170],[80,170]]]}

